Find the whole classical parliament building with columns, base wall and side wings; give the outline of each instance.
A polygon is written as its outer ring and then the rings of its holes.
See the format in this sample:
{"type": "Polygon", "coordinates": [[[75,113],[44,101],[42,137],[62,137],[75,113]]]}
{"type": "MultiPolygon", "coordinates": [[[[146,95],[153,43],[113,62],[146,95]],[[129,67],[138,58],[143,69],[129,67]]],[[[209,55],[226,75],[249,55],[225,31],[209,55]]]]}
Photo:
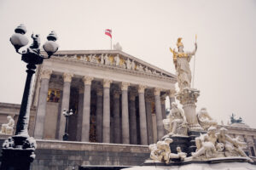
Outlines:
{"type": "MultiPolygon", "coordinates": [[[[175,101],[176,82],[174,74],[121,50],[58,51],[44,59],[32,89],[29,133],[38,143],[32,169],[140,165],[149,157],[148,144],[166,133],[162,120],[175,101]],[[73,111],[68,141],[62,140],[64,110],[73,111]]],[[[17,122],[19,110],[0,103],[0,124],[6,116],[17,122]]],[[[247,155],[255,156],[256,129],[243,123],[219,127],[246,142],[247,155]]]]}

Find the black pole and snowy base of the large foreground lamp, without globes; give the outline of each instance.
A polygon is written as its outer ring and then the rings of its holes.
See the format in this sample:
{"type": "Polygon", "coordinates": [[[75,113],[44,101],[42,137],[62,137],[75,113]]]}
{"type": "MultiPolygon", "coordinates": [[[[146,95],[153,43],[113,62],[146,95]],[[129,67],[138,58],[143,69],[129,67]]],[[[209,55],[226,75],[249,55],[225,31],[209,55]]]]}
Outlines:
{"type": "Polygon", "coordinates": [[[35,73],[36,65],[28,64],[26,67],[26,84],[20,105],[20,115],[16,132],[15,136],[4,142],[5,145],[9,147],[3,147],[1,170],[30,169],[30,164],[35,157],[34,150],[36,148],[36,141],[32,139],[32,137],[29,137],[27,127],[30,113],[31,100],[29,97],[31,96],[32,76],[35,73]]]}

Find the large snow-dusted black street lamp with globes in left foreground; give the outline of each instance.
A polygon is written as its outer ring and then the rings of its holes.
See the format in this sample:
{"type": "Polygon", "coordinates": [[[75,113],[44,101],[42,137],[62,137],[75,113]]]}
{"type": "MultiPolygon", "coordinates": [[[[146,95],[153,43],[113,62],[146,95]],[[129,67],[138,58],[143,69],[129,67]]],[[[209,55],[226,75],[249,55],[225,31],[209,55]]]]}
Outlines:
{"type": "Polygon", "coordinates": [[[15,29],[15,34],[10,37],[10,42],[15,46],[16,52],[21,54],[21,60],[27,63],[26,65],[26,84],[20,105],[20,115],[18,118],[16,132],[13,137],[5,140],[3,143],[3,156],[0,170],[28,170],[30,164],[35,158],[34,151],[37,147],[35,139],[30,137],[27,132],[30,106],[31,106],[31,87],[32,76],[35,73],[36,65],[43,63],[44,59],[49,59],[52,54],[58,50],[58,45],[55,42],[57,36],[55,31],[51,31],[47,37],[48,41],[44,43],[44,50],[48,54],[47,57],[40,54],[40,37],[32,34],[32,45],[20,53],[19,49],[26,46],[28,39],[25,37],[26,27],[20,25],[15,29]]]}

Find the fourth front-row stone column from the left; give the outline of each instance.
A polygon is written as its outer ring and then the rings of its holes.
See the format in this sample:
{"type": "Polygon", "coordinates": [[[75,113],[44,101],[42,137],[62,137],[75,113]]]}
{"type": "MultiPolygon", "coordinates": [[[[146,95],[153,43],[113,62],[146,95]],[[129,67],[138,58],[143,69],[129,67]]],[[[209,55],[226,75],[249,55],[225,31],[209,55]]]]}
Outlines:
{"type": "Polygon", "coordinates": [[[103,143],[110,143],[110,99],[111,80],[103,80],[103,143]]]}

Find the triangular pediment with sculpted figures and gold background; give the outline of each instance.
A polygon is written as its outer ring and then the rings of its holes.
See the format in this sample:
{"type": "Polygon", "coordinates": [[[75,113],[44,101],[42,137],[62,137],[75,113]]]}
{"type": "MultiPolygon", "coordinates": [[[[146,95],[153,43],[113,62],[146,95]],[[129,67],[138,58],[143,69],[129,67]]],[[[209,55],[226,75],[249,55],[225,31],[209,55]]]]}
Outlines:
{"type": "Polygon", "coordinates": [[[119,50],[62,50],[55,53],[54,56],[96,65],[118,67],[127,71],[138,71],[148,75],[176,78],[170,72],[150,65],[142,59],[137,59],[119,50]]]}

